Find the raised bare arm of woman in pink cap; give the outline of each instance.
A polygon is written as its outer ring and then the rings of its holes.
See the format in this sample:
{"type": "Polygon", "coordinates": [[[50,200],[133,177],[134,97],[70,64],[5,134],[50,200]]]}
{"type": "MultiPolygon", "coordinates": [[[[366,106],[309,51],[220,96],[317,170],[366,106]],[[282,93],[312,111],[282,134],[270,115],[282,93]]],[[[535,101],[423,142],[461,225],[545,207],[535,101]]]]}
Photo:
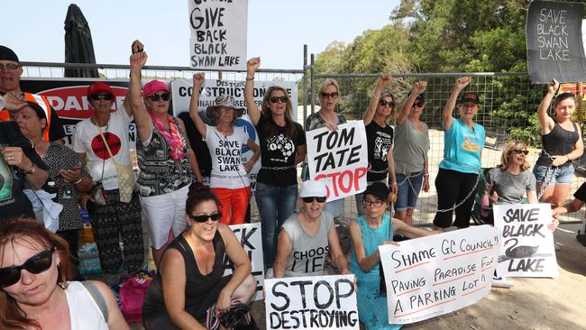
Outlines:
{"type": "Polygon", "coordinates": [[[147,141],[152,133],[151,115],[147,113],[141,93],[141,70],[146,64],[147,58],[146,52],[137,52],[130,56],[130,87],[126,93],[126,98],[130,96],[134,123],[142,141],[147,141]]]}

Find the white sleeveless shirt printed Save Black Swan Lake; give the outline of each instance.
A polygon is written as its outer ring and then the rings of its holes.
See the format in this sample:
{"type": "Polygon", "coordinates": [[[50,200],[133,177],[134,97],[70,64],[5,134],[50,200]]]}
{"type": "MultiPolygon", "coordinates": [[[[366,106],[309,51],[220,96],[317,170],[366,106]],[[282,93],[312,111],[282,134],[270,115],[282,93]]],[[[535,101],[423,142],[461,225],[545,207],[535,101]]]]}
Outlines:
{"type": "Polygon", "coordinates": [[[235,127],[232,135],[225,136],[215,126],[207,125],[206,138],[209,155],[212,158],[211,188],[244,188],[251,185],[244,170],[243,146],[248,142],[248,134],[243,127],[235,127]]]}

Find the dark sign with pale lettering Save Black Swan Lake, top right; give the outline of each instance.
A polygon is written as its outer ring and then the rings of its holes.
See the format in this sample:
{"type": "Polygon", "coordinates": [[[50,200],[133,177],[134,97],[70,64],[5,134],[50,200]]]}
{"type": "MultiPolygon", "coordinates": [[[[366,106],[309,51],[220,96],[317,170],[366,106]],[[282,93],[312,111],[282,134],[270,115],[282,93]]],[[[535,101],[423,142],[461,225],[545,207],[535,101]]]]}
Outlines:
{"type": "Polygon", "coordinates": [[[581,38],[584,5],[533,1],[526,16],[529,76],[534,83],[586,80],[586,60],[581,38]]]}

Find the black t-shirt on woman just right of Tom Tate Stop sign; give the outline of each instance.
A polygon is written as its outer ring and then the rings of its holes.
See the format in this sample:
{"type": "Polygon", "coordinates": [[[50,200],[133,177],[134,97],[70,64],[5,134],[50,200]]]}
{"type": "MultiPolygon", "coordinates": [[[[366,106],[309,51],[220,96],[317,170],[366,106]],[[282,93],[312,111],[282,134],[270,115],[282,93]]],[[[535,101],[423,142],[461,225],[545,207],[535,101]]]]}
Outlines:
{"type": "MultiPolygon", "coordinates": [[[[389,125],[380,127],[374,121],[366,125],[366,140],[371,170],[366,174],[367,181],[380,181],[389,174],[387,152],[393,143],[393,128],[389,125]]],[[[392,151],[390,151],[392,152],[392,151]]]]}

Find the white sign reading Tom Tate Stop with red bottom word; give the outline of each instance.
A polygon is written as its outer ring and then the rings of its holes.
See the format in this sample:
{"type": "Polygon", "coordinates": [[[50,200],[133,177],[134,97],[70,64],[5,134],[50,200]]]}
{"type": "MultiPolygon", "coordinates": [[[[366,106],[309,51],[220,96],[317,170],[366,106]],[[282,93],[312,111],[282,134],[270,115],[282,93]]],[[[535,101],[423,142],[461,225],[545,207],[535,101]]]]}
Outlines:
{"type": "Polygon", "coordinates": [[[318,128],[306,133],[309,177],[327,187],[327,200],[353,196],[366,189],[368,156],[362,121],[318,128]]]}

